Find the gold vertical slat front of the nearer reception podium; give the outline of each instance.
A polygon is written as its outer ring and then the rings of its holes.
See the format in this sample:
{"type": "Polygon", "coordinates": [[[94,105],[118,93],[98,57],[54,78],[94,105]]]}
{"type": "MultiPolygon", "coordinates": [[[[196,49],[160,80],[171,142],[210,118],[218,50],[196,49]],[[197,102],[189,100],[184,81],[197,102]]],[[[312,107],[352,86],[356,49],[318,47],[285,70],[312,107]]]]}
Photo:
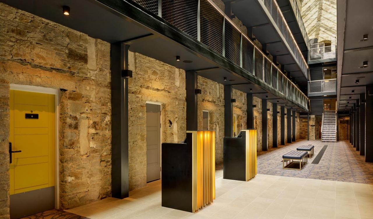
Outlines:
{"type": "Polygon", "coordinates": [[[193,211],[215,199],[215,131],[187,131],[193,134],[193,211]]]}

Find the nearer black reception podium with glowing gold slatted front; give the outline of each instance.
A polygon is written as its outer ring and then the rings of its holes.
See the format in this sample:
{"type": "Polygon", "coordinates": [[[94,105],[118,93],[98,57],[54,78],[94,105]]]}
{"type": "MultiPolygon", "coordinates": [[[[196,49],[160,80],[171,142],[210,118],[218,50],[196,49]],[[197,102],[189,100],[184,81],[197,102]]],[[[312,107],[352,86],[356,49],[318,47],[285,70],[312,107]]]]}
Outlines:
{"type": "Polygon", "coordinates": [[[187,212],[215,199],[215,131],[186,131],[184,142],[162,143],[162,206],[187,212]]]}

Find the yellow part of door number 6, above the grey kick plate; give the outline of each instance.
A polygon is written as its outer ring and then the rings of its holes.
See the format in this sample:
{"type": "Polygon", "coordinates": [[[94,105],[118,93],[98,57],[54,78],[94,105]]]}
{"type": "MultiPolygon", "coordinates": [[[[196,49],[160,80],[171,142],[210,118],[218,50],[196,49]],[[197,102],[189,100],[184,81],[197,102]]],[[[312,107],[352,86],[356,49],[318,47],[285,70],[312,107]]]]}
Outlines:
{"type": "Polygon", "coordinates": [[[10,194],[55,184],[54,95],[10,91],[10,194]]]}

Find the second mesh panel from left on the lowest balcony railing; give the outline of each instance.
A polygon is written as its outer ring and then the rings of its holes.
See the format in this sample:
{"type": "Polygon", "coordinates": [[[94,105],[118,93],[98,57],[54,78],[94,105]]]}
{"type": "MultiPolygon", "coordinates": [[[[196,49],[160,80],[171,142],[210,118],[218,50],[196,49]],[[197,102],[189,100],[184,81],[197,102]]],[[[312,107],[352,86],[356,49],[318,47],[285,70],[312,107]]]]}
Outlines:
{"type": "Polygon", "coordinates": [[[197,39],[197,9],[195,0],[162,0],[162,18],[197,39]]]}

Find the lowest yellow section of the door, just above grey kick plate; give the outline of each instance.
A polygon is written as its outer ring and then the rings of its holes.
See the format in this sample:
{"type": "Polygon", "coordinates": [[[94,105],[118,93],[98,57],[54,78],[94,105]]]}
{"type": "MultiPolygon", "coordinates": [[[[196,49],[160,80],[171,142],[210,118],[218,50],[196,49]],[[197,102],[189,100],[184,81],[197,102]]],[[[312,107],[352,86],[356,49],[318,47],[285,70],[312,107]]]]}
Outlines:
{"type": "Polygon", "coordinates": [[[15,166],[14,181],[15,190],[48,184],[48,163],[15,166]]]}

